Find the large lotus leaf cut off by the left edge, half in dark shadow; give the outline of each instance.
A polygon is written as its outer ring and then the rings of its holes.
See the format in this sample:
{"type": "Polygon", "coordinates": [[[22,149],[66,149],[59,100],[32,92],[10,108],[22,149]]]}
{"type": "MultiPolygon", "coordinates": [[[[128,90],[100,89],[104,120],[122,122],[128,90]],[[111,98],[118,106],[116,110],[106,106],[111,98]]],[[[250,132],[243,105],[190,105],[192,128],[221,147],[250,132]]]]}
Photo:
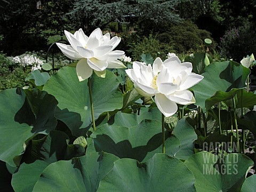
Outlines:
{"type": "Polygon", "coordinates": [[[22,153],[28,138],[54,130],[56,106],[55,98],[45,91],[4,90],[0,94],[0,159],[15,166],[13,157],[22,153]]]}

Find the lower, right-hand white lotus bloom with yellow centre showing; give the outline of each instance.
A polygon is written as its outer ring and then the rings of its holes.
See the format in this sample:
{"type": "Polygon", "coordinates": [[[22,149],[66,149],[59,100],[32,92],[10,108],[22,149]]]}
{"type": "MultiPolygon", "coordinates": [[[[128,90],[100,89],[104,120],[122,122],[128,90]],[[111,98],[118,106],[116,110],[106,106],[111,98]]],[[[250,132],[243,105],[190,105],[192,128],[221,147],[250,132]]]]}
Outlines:
{"type": "Polygon", "coordinates": [[[133,69],[125,71],[141,95],[155,96],[158,109],[166,117],[177,112],[177,103],[181,105],[195,103],[193,93],[188,89],[203,79],[203,76],[191,73],[190,62],[181,63],[176,56],[164,62],[156,58],[153,67],[135,61],[133,69]]]}

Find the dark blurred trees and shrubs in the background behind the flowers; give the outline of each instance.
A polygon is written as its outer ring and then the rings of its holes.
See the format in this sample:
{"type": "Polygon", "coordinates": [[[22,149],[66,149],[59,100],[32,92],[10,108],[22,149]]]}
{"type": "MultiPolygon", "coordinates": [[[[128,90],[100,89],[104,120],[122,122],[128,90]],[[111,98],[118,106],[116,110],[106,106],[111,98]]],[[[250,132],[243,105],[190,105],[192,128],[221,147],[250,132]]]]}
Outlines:
{"type": "MultiPolygon", "coordinates": [[[[213,40],[210,51],[229,59],[240,59],[256,51],[255,46],[247,43],[255,36],[255,0],[45,0],[40,6],[36,3],[9,0],[1,6],[0,51],[16,56],[26,51],[47,50],[65,29],[74,33],[82,28],[90,34],[97,27],[121,36],[119,47],[128,55],[132,55],[134,43],[138,51],[142,45],[147,47],[146,39],[148,46],[156,43],[159,48],[153,49],[155,53],[151,51],[153,57],[165,57],[162,52],[166,50],[177,54],[201,50],[204,38],[213,40]],[[234,28],[241,29],[241,37],[233,43],[221,41],[234,28]],[[239,55],[234,53],[237,58],[229,49],[239,50],[239,55]]],[[[138,58],[141,53],[133,53],[133,57],[138,58]]]]}

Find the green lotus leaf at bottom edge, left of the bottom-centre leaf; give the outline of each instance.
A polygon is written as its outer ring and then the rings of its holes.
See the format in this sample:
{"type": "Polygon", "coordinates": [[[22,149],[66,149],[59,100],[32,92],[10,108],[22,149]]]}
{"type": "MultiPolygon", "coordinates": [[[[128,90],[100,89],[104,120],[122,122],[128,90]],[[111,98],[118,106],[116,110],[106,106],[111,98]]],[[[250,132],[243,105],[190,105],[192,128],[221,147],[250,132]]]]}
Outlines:
{"type": "Polygon", "coordinates": [[[100,180],[118,157],[107,153],[86,153],[69,161],[47,166],[33,191],[97,191],[100,180]]]}

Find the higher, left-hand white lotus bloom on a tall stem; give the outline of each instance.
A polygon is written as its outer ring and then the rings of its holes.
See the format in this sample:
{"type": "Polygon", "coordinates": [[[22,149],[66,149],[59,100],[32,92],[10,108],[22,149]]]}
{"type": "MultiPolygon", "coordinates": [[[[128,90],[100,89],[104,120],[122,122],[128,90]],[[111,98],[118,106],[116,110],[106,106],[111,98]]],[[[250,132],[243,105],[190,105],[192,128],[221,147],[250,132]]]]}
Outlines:
{"type": "Polygon", "coordinates": [[[109,33],[102,35],[100,28],[95,29],[87,37],[82,29],[75,34],[65,30],[65,35],[70,45],[56,43],[63,54],[68,58],[79,60],[76,72],[79,81],[84,81],[92,75],[92,71],[100,77],[106,76],[106,68],[126,68],[117,58],[123,51],[113,51],[120,43],[120,37],[110,39],[109,33]]]}

